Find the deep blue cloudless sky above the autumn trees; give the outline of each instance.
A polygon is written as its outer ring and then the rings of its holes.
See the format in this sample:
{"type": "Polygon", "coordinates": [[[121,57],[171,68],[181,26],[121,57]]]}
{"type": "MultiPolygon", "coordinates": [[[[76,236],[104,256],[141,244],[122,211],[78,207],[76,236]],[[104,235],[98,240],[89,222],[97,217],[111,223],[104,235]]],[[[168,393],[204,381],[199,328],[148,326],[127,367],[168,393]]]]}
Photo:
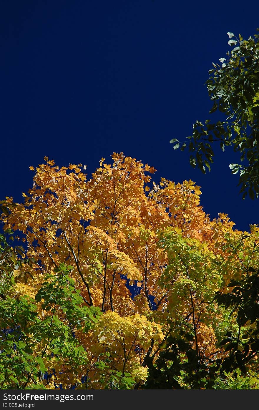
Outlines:
{"type": "Polygon", "coordinates": [[[156,181],[195,181],[211,218],[259,223],[258,200],[238,194],[230,149],[202,175],[169,144],[207,118],[211,63],[231,50],[227,32],[255,34],[258,16],[257,1],[1,0],[0,200],[21,201],[29,166],[45,155],[91,174],[123,151],[154,166],[156,181]]]}

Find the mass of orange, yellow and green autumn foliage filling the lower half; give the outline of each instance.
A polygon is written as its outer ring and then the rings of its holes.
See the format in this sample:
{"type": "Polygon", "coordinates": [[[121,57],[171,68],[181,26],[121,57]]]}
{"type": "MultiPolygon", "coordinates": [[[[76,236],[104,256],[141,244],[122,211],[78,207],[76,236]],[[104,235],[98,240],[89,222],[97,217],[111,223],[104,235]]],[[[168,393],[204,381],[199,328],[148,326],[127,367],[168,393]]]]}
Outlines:
{"type": "Polygon", "coordinates": [[[259,228],[122,153],[44,159],[2,201],[1,388],[258,388],[259,228]]]}

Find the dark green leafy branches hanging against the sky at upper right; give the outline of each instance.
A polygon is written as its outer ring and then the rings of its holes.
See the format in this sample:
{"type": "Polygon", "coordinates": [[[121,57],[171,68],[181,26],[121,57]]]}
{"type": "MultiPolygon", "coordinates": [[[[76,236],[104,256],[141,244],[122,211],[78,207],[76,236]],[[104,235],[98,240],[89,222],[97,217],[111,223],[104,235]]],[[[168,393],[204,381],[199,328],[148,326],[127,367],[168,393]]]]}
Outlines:
{"type": "MultiPolygon", "coordinates": [[[[258,29],[259,30],[259,29],[258,29]]],[[[171,139],[173,148],[191,153],[190,164],[205,173],[213,163],[213,144],[224,151],[232,146],[240,153],[241,164],[229,164],[233,174],[239,173],[243,198],[259,196],[259,34],[244,40],[228,32],[228,44],[234,47],[213,63],[207,89],[213,102],[210,114],[218,112],[218,121],[196,121],[188,141],[171,139]],[[225,117],[224,120],[221,118],[225,117]]],[[[215,114],[212,115],[215,118],[215,114]]]]}

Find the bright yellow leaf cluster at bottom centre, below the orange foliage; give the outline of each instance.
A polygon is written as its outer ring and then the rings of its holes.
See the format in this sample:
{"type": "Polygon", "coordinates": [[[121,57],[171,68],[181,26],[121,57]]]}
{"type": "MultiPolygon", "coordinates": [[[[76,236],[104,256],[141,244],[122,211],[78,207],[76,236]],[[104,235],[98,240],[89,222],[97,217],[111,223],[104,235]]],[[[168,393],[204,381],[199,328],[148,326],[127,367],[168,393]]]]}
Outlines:
{"type": "MultiPolygon", "coordinates": [[[[144,315],[121,317],[116,312],[108,311],[91,333],[92,346],[89,350],[93,358],[108,352],[113,368],[122,374],[132,374],[136,381],[145,382],[148,370],[143,369],[142,365],[152,339],[154,349],[164,339],[159,324],[149,321],[144,315]]],[[[98,380],[98,371],[90,371],[89,378],[98,380]]],[[[91,385],[100,386],[96,382],[91,385]]]]}

